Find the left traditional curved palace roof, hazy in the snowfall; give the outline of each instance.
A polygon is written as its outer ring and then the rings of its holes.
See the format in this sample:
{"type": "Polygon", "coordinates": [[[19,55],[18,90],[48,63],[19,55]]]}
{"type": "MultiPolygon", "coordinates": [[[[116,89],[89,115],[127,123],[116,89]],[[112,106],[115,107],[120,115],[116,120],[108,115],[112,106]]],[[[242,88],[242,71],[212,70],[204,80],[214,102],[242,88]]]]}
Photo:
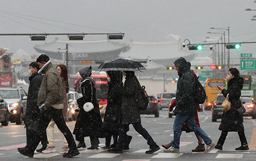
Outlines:
{"type": "Polygon", "coordinates": [[[82,41],[82,40],[54,40],[51,43],[35,45],[39,53],[46,53],[51,58],[62,60],[63,48],[68,44],[69,60],[111,60],[118,58],[121,52],[129,50],[129,45],[119,44],[111,40],[82,41]],[[61,50],[58,51],[58,48],[61,50]]]}

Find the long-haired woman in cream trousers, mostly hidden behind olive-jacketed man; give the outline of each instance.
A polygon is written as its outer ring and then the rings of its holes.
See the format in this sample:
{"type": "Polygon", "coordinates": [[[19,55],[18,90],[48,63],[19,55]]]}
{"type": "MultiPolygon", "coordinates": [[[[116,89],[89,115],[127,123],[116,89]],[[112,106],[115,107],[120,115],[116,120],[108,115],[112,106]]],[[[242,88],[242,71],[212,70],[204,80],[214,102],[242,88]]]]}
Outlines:
{"type": "MultiPolygon", "coordinates": [[[[56,67],[57,71],[61,75],[62,79],[62,86],[63,86],[63,93],[65,94],[65,102],[64,102],[64,108],[62,109],[62,114],[64,117],[64,120],[67,120],[67,93],[69,92],[69,78],[67,75],[67,67],[66,65],[57,65],[56,67]]],[[[47,133],[47,139],[49,144],[47,145],[47,148],[42,151],[44,154],[56,152],[55,144],[54,144],[54,125],[55,122],[53,119],[51,119],[49,125],[47,126],[46,133],[47,133]]],[[[59,131],[61,133],[61,131],[59,131]]],[[[61,133],[62,139],[63,139],[63,147],[61,150],[59,150],[60,154],[65,154],[69,151],[69,145],[67,144],[67,140],[64,137],[64,135],[61,133]]]]}

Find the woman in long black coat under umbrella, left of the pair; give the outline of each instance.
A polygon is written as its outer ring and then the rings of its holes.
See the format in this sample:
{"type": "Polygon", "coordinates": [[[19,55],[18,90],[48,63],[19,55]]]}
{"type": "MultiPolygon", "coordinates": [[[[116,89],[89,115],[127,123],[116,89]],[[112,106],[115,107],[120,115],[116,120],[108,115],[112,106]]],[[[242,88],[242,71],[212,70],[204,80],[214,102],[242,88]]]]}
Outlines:
{"type": "Polygon", "coordinates": [[[102,129],[106,136],[105,148],[110,149],[116,147],[117,137],[119,134],[119,119],[121,117],[123,88],[122,72],[107,71],[107,80],[109,81],[109,91],[107,92],[107,108],[102,129]],[[110,145],[112,136],[114,143],[110,145]]]}

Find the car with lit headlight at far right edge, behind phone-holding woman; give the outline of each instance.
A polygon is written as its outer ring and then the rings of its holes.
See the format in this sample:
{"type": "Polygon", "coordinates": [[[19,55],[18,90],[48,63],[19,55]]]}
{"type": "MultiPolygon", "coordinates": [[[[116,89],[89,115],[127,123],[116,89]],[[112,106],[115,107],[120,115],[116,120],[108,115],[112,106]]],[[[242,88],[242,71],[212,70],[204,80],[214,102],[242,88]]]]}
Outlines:
{"type": "Polygon", "coordinates": [[[256,107],[254,101],[250,97],[241,97],[240,100],[244,108],[246,109],[244,116],[252,116],[252,119],[256,118],[256,107]]]}

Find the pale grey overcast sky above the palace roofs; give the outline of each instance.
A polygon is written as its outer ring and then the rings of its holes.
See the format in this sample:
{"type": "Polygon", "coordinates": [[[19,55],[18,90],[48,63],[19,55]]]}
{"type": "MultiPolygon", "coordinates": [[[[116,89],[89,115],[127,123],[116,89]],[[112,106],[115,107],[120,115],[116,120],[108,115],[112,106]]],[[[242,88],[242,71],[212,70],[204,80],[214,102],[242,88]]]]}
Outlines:
{"type": "MultiPolygon", "coordinates": [[[[254,0],[2,0],[0,34],[124,32],[121,43],[131,39],[163,42],[173,34],[195,44],[207,36],[220,36],[207,34],[208,31],[224,32],[210,27],[229,26],[230,42],[256,41],[256,21],[250,21],[256,11],[245,11],[246,8],[256,9],[254,0]]],[[[0,47],[13,53],[22,48],[33,54],[35,44],[52,42],[55,37],[31,42],[28,36],[0,36],[0,47]]],[[[94,35],[84,40],[94,39],[106,36],[94,35]]],[[[237,56],[254,53],[255,49],[255,44],[242,44],[240,50],[230,53],[237,56]]],[[[200,54],[204,55],[204,51],[200,54]]]]}

